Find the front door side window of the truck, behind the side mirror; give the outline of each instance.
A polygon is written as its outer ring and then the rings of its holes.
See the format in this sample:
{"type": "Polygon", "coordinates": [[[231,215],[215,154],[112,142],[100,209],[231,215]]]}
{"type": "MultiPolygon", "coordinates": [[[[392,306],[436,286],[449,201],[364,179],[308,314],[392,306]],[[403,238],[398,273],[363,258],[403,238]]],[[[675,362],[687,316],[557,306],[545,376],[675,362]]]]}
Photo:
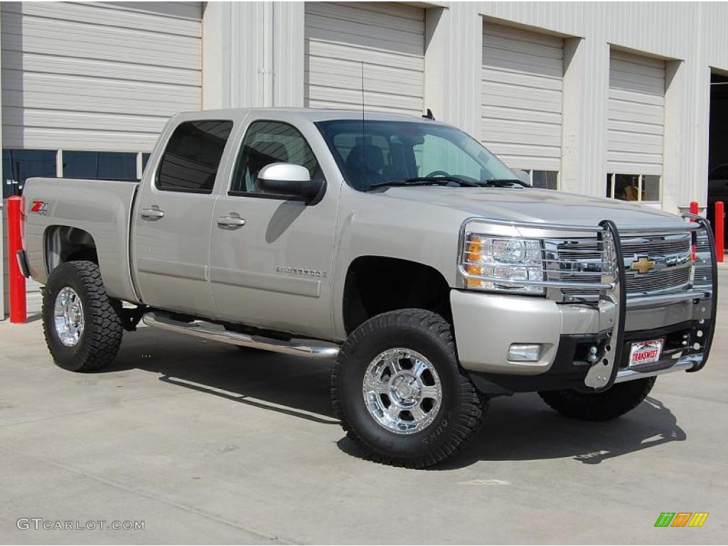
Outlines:
{"type": "Polygon", "coordinates": [[[301,165],[309,170],[312,179],[320,176],[311,146],[296,127],[282,122],[253,122],[242,141],[230,191],[264,193],[258,186],[258,173],[271,163],[301,165]]]}

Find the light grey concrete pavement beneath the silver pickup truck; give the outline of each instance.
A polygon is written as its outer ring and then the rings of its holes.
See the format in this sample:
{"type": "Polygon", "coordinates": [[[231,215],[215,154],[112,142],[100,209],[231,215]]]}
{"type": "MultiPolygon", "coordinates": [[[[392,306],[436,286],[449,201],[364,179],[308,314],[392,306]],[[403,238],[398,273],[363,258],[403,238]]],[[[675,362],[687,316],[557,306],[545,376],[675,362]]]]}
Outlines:
{"type": "Polygon", "coordinates": [[[113,368],[75,374],[53,365],[37,317],[2,323],[0,542],[725,543],[727,312],[723,296],[708,367],[658,379],[628,416],[574,422],[536,395],[501,397],[433,470],[357,456],[328,364],[141,328],[113,368]],[[661,512],[710,515],[655,529],[661,512]]]}

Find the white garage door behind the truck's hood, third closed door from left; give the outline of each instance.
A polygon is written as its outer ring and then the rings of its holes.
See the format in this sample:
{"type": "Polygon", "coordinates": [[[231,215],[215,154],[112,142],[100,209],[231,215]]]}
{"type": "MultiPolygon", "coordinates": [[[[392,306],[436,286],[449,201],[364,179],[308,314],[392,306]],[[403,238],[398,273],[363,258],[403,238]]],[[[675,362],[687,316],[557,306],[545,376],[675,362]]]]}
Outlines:
{"type": "Polygon", "coordinates": [[[516,169],[561,170],[563,39],[483,24],[483,143],[516,169]]]}

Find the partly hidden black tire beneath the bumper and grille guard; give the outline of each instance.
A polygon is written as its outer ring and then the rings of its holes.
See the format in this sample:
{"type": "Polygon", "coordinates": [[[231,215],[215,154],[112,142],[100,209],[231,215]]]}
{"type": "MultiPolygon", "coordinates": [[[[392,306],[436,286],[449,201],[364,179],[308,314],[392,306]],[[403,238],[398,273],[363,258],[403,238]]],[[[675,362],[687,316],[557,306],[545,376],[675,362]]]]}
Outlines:
{"type": "Polygon", "coordinates": [[[571,389],[539,392],[545,403],[563,416],[585,421],[607,421],[632,411],[654,386],[654,377],[617,383],[604,392],[571,389]]]}

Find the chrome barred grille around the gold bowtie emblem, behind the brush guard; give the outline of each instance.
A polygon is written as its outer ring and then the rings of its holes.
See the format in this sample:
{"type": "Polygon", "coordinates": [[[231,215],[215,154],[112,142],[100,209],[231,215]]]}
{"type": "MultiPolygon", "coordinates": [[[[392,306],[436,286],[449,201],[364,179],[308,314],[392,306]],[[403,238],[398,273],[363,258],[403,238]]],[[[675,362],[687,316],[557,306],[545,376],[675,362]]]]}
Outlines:
{"type": "MultiPolygon", "coordinates": [[[[607,264],[603,261],[602,243],[595,239],[549,240],[547,249],[558,256],[558,269],[548,272],[549,280],[599,282],[607,264]]],[[[547,250],[548,251],[548,250],[547,250]]],[[[690,282],[691,235],[649,234],[622,236],[625,281],[628,296],[642,296],[679,290],[690,282]],[[639,273],[631,266],[638,258],[654,261],[654,269],[639,273]]],[[[598,290],[565,288],[565,296],[594,297],[598,290]]]]}

